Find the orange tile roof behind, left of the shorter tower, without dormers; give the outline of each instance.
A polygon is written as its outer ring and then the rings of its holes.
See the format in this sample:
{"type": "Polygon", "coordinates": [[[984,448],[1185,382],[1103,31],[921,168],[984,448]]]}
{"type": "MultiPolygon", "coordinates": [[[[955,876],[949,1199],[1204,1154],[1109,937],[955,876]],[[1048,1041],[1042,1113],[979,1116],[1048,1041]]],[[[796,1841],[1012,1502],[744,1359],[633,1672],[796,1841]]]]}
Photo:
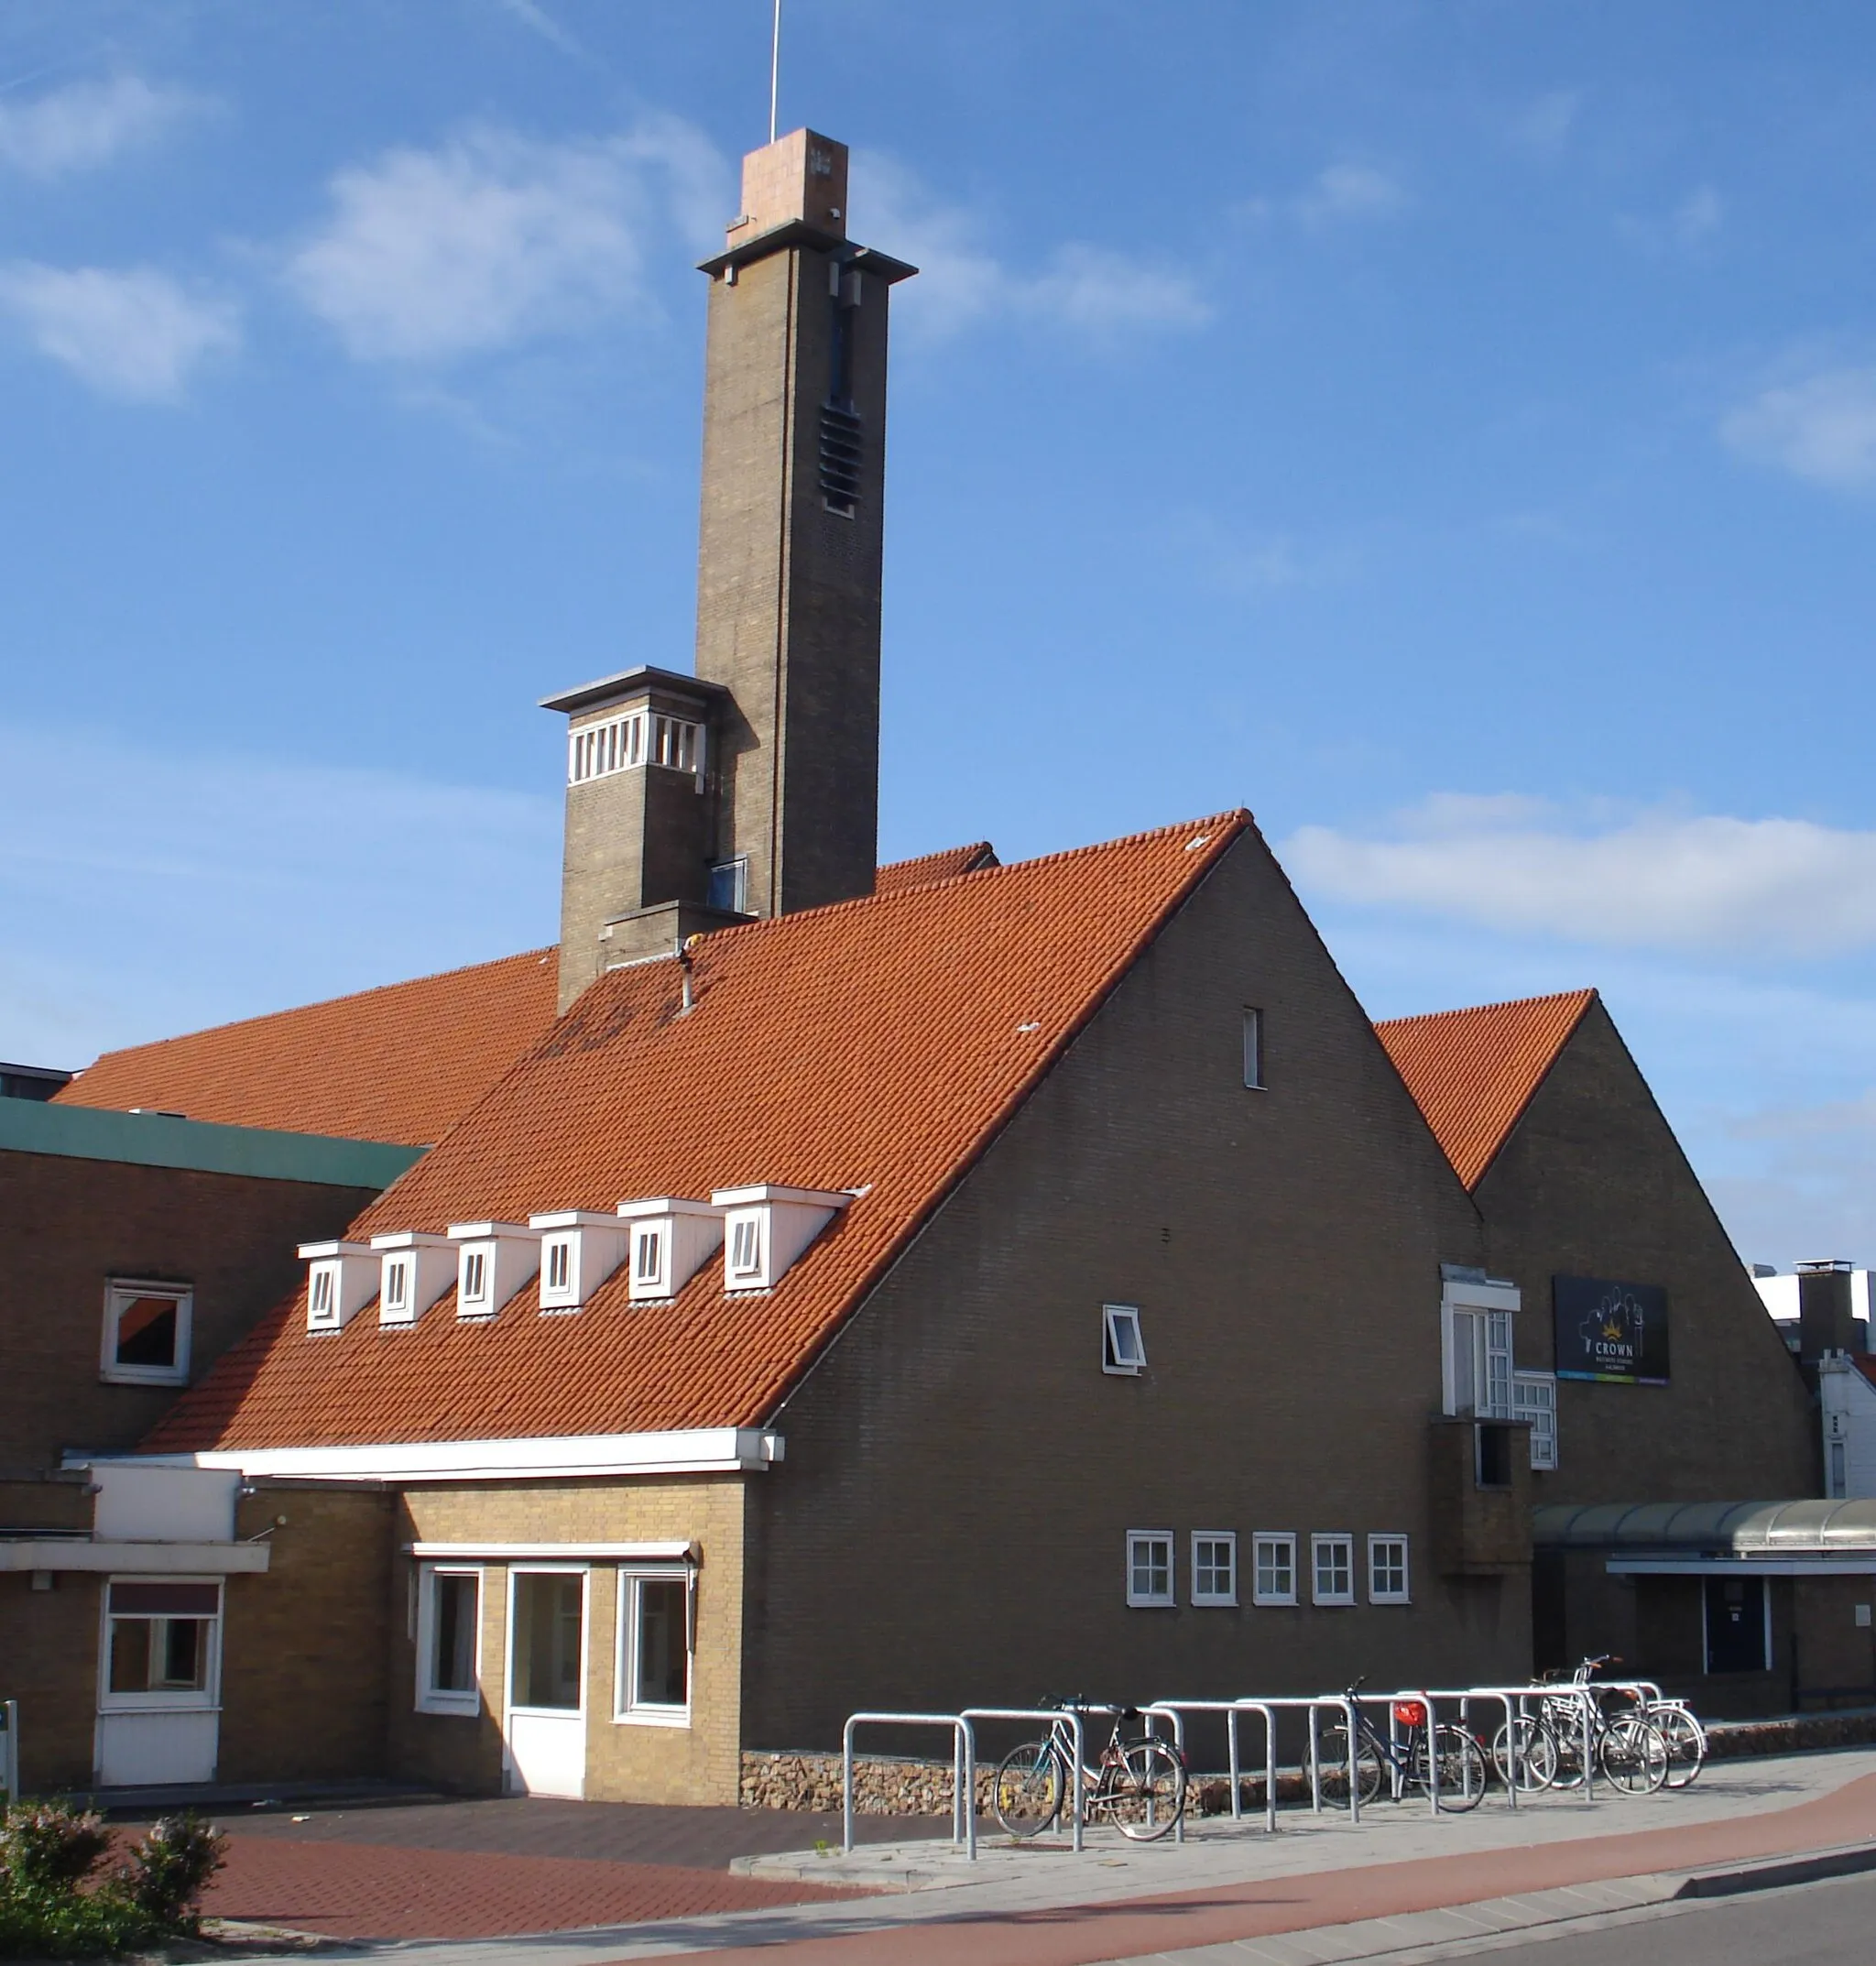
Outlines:
{"type": "Polygon", "coordinates": [[[106,1052],[59,1105],[429,1146],[553,1022],[555,952],[106,1052]]]}

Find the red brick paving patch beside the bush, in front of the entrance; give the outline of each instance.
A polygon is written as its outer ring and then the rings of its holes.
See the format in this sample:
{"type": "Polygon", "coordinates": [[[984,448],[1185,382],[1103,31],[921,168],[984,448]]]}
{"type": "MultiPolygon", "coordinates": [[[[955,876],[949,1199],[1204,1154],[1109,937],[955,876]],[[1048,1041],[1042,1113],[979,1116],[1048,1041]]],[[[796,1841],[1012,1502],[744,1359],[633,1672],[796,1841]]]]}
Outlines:
{"type": "Polygon", "coordinates": [[[865,1895],[676,1864],[234,1834],[203,1911],[334,1938],[499,1938],[865,1895]]]}

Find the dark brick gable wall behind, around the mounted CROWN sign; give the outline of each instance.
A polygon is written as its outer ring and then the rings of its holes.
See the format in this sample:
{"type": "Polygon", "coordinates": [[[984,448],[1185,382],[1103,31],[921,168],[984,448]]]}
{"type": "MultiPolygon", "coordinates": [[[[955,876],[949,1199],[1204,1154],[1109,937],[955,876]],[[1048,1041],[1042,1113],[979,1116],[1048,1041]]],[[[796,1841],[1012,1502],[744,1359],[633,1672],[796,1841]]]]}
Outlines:
{"type": "Polygon", "coordinates": [[[1671,1384],[1559,1382],[1559,1465],[1534,1476],[1540,1506],[1817,1494],[1797,1366],[1601,1005],[1475,1199],[1493,1274],[1524,1290],[1520,1366],[1555,1362],[1552,1276],[1668,1290],[1671,1384]]]}

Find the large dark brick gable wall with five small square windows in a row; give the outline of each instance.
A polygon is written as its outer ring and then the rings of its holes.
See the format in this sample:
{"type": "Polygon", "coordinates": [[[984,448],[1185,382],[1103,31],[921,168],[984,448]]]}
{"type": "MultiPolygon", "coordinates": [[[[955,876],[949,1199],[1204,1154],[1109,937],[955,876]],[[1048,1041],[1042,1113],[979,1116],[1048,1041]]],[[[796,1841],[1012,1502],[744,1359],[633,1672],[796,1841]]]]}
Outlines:
{"type": "Polygon", "coordinates": [[[1522,1575],[1428,1561],[1441,1260],[1481,1260],[1473,1207],[1247,838],[779,1416],[745,1746],[867,1705],[1522,1671],[1522,1575]],[[1101,1372],[1103,1300],[1143,1309],[1137,1380],[1101,1372]],[[1178,1608],[1125,1604],[1127,1530],[1176,1533],[1178,1608]],[[1194,1530],[1237,1532],[1241,1608],[1190,1604],[1194,1530]],[[1304,1569],[1310,1532],[1406,1532],[1414,1604],[1251,1608],[1255,1530],[1304,1569]]]}

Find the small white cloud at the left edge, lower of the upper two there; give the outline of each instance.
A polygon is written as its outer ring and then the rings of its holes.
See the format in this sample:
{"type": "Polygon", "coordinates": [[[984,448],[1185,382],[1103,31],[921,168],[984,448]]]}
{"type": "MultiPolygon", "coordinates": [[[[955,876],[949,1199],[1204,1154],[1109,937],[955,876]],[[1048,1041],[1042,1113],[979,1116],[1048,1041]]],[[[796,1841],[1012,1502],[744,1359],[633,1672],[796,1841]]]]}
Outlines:
{"type": "Polygon", "coordinates": [[[228,301],[147,265],[14,260],[0,265],[0,313],[100,395],[134,403],[175,401],[201,362],[240,346],[228,301]]]}

